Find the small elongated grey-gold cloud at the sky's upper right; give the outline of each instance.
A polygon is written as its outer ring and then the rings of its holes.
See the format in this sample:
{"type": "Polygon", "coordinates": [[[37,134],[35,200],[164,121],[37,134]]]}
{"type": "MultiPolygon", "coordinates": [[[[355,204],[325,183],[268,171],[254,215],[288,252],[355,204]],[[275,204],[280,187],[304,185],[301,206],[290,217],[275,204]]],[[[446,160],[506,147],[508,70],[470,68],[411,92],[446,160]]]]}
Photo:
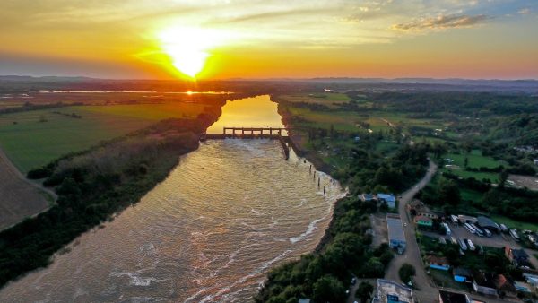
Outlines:
{"type": "Polygon", "coordinates": [[[469,28],[474,25],[486,22],[492,17],[485,14],[465,15],[465,14],[439,14],[437,17],[421,18],[407,23],[393,24],[393,30],[400,31],[425,31],[425,30],[446,30],[456,28],[469,28]]]}

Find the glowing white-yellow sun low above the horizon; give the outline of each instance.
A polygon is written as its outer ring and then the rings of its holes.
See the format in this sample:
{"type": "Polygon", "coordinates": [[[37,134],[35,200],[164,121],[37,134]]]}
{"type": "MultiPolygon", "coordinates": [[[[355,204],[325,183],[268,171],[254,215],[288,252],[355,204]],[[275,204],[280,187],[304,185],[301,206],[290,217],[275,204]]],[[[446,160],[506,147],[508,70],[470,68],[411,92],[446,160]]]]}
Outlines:
{"type": "Polygon", "coordinates": [[[202,28],[169,27],[161,30],[161,48],[171,65],[182,74],[195,78],[204,70],[210,51],[226,39],[223,32],[202,28]]]}

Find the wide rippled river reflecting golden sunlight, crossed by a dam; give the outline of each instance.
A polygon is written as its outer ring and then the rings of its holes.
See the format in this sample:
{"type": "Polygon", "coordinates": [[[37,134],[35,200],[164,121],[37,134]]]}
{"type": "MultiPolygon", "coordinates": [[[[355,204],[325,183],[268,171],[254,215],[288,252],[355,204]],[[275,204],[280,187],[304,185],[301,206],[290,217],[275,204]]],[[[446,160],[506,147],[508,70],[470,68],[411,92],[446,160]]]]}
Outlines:
{"type": "MultiPolygon", "coordinates": [[[[282,126],[268,96],[229,101],[222,111],[216,129],[282,126]]],[[[343,195],[319,172],[318,187],[309,169],[293,152],[284,160],[276,140],[201,143],[140,203],[77,238],[48,268],[8,284],[0,301],[250,301],[271,267],[317,246],[343,195]]]]}

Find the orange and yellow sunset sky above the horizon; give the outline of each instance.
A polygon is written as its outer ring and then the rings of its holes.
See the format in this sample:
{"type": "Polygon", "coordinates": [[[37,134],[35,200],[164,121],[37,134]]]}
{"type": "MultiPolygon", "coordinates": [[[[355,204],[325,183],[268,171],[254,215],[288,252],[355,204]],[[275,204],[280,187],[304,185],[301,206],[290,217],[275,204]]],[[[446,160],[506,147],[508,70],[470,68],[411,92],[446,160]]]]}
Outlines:
{"type": "Polygon", "coordinates": [[[0,74],[538,78],[538,1],[0,0],[0,74]]]}

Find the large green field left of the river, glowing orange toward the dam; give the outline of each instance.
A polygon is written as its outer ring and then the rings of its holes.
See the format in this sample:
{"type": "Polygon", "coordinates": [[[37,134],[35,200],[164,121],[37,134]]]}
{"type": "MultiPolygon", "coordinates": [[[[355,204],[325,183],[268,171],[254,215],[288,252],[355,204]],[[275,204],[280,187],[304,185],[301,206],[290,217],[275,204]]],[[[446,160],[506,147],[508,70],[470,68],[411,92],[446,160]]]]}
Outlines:
{"type": "Polygon", "coordinates": [[[130,133],[168,117],[196,117],[193,103],[83,106],[0,116],[0,146],[23,173],[69,152],[130,133]],[[53,113],[76,114],[82,118],[53,113]],[[16,124],[14,124],[16,122],[16,124]]]}

